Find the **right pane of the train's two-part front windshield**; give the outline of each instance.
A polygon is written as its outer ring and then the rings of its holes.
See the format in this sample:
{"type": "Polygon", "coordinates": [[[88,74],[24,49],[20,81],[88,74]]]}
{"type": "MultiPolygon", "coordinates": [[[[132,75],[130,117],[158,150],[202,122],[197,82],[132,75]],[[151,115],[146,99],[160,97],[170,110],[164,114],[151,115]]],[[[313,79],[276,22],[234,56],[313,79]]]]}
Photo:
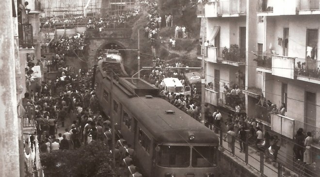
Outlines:
{"type": "Polygon", "coordinates": [[[196,146],[192,148],[193,167],[217,166],[217,147],[196,146]]]}

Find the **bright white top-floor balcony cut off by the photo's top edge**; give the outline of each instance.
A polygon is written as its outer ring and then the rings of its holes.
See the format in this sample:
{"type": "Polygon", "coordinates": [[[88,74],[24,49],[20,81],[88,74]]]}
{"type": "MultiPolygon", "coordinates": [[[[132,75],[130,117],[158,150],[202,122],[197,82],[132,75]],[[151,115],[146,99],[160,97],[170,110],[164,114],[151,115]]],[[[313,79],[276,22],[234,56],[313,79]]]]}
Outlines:
{"type": "Polygon", "coordinates": [[[258,0],[258,16],[296,15],[295,1],[292,0],[258,0]]]}

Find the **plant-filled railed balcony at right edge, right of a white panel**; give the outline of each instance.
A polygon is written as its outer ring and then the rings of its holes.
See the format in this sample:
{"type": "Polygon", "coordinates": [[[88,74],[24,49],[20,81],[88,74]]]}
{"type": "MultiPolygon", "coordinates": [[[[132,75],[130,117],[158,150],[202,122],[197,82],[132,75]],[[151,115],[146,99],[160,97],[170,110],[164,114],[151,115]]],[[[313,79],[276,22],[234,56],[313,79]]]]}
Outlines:
{"type": "Polygon", "coordinates": [[[316,59],[297,58],[294,74],[297,80],[320,84],[320,62],[316,59]]]}

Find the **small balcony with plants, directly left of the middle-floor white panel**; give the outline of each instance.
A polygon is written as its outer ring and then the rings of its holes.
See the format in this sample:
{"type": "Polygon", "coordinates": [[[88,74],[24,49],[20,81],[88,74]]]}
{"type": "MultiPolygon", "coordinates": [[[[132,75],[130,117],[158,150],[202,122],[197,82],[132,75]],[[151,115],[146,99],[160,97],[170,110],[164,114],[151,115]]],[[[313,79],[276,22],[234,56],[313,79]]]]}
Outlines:
{"type": "Polygon", "coordinates": [[[257,71],[265,72],[265,73],[272,73],[272,55],[270,53],[259,53],[255,54],[257,71]]]}

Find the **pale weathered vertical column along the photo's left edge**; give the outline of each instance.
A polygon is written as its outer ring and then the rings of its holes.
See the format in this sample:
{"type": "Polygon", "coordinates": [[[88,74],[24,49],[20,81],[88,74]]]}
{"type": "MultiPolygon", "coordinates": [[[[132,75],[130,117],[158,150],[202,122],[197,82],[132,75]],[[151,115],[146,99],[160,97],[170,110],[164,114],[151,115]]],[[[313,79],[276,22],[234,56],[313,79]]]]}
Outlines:
{"type": "Polygon", "coordinates": [[[12,0],[0,11],[0,177],[19,177],[19,132],[12,0]],[[5,136],[5,138],[4,138],[5,136]]]}

